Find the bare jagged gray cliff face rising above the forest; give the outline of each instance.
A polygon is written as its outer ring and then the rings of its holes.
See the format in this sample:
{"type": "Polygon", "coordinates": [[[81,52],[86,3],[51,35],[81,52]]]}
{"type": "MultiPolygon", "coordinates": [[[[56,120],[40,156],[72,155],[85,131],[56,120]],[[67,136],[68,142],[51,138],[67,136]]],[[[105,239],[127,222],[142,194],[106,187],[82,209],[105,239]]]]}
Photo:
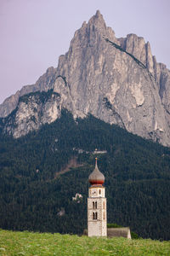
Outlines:
{"type": "Polygon", "coordinates": [[[156,63],[150,44],[133,34],[117,39],[98,11],[75,33],[69,51],[59,57],[58,67],[50,68],[26,89],[53,88],[48,101],[37,103],[34,94],[28,102],[18,104],[15,99],[18,107],[10,115],[14,126],[8,117],[3,119],[4,130],[20,137],[53,122],[61,108],[66,108],[75,118],[92,113],[141,137],[170,145],[169,84],[170,73],[156,63]]]}

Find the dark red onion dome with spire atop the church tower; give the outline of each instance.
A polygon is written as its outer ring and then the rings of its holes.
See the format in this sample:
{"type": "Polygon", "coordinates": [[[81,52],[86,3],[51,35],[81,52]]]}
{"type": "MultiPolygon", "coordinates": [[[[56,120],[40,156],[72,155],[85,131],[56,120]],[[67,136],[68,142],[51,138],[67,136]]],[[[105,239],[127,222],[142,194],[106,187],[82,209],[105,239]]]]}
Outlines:
{"type": "Polygon", "coordinates": [[[92,185],[102,185],[105,182],[105,176],[99,172],[97,158],[95,160],[95,168],[94,171],[89,175],[88,181],[92,185]]]}

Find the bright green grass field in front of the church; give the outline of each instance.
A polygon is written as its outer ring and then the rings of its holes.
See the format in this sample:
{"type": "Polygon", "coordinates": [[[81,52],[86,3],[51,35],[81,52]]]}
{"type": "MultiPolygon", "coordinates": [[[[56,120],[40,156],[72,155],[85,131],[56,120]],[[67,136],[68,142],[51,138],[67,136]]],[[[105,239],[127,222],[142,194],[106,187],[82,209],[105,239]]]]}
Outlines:
{"type": "Polygon", "coordinates": [[[0,255],[170,255],[170,241],[0,230],[0,255]]]}

